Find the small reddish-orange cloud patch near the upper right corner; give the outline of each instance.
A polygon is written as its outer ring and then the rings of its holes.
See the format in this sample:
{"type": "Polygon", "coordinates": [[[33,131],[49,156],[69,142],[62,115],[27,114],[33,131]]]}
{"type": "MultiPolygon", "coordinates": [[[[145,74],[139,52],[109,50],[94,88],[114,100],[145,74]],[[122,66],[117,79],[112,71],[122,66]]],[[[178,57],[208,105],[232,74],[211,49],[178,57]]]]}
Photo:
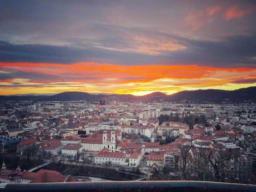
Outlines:
{"type": "Polygon", "coordinates": [[[242,18],[252,12],[252,9],[246,9],[243,10],[239,8],[237,5],[231,6],[229,9],[226,10],[225,12],[225,19],[226,21],[229,21],[231,19],[238,19],[242,18]]]}

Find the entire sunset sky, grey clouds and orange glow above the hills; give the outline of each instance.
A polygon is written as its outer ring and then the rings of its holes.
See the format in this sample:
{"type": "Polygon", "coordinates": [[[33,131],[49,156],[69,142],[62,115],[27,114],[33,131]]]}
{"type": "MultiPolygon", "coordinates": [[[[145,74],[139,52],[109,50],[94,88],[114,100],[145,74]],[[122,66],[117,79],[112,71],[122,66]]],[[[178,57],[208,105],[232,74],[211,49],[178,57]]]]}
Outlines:
{"type": "Polygon", "coordinates": [[[0,95],[256,86],[255,0],[1,0],[0,95]]]}

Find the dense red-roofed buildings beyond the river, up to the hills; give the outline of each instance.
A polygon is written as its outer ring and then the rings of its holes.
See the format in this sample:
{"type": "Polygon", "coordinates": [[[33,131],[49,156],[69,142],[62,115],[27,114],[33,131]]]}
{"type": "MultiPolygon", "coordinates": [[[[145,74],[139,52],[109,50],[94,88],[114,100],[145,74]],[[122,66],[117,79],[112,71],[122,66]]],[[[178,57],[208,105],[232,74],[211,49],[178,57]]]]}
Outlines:
{"type": "MultiPolygon", "coordinates": [[[[196,174],[249,182],[256,167],[255,122],[255,103],[5,101],[0,104],[0,141],[2,148],[17,149],[19,157],[83,162],[93,153],[86,163],[145,173],[155,167],[185,180],[196,174]]],[[[47,181],[53,174],[43,175],[29,182],[47,181]]]]}

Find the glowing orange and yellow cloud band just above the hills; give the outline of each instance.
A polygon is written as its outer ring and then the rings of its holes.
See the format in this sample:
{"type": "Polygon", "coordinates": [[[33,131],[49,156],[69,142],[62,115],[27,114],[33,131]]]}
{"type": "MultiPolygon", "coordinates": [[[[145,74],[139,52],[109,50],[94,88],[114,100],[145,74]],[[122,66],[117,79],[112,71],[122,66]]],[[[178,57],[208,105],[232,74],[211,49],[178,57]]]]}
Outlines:
{"type": "Polygon", "coordinates": [[[0,82],[0,92],[4,95],[29,93],[31,88],[35,93],[86,91],[143,95],[162,91],[171,94],[205,87],[223,88],[222,86],[227,84],[229,89],[246,87],[248,83],[253,86],[252,81],[239,84],[235,80],[246,77],[256,78],[254,68],[198,65],[123,66],[94,62],[70,65],[2,62],[0,68],[2,71],[0,73],[5,73],[5,76],[8,74],[6,79],[0,82]],[[25,75],[22,75],[23,73],[25,75]]]}

